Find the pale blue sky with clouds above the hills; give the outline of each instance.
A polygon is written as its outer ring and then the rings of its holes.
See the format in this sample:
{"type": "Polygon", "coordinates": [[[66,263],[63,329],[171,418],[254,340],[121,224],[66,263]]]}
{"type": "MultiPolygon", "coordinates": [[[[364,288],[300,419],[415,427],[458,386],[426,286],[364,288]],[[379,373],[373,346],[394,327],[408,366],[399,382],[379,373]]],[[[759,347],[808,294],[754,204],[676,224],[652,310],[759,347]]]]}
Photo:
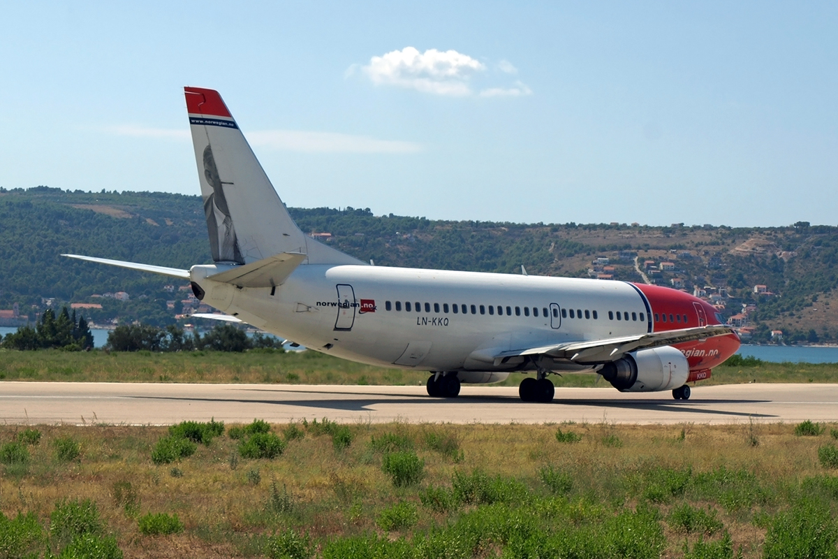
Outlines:
{"type": "Polygon", "coordinates": [[[288,205],[838,225],[838,3],[5,3],[0,186],[198,194],[184,85],[288,205]]]}

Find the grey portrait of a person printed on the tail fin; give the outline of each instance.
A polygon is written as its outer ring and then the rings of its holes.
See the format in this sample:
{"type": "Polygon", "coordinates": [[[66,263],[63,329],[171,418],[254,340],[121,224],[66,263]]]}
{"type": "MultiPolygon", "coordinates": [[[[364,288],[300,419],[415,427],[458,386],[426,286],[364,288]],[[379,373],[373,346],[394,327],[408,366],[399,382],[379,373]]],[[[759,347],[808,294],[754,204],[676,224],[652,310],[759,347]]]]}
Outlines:
{"type": "Polygon", "coordinates": [[[244,264],[245,260],[241,257],[239,243],[235,238],[233,218],[230,217],[230,209],[224,195],[224,185],[232,183],[221,181],[210,146],[204,149],[204,178],[212,189],[212,193],[204,198],[204,215],[207,218],[212,258],[216,262],[233,261],[244,264]]]}

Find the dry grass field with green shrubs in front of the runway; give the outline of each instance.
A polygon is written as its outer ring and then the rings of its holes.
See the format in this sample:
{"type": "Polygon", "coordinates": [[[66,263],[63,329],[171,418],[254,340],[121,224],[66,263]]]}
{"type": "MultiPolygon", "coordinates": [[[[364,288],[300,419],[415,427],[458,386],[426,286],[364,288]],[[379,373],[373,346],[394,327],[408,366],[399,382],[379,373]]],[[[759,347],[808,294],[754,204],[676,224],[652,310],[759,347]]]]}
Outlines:
{"type": "Polygon", "coordinates": [[[6,426],[0,556],[834,557],[835,436],[754,422],[6,426]],[[274,458],[246,458],[260,454],[274,458]]]}

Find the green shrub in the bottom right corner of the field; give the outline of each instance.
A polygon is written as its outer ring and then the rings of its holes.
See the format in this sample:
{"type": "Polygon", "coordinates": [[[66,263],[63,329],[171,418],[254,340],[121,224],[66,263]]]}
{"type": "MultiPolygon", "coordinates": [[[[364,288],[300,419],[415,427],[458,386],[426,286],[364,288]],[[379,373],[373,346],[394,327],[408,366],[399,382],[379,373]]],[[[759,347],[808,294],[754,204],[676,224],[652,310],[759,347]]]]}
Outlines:
{"type": "Polygon", "coordinates": [[[829,507],[810,497],[799,500],[791,510],[774,515],[765,535],[763,557],[838,556],[838,526],[829,507]]]}

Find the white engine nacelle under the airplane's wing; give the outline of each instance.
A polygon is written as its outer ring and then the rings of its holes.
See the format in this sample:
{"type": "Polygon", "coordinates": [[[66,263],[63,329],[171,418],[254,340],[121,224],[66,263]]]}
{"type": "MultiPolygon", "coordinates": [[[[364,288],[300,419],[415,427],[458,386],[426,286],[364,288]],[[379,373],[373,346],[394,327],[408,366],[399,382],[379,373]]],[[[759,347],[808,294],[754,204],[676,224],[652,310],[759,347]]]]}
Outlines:
{"type": "Polygon", "coordinates": [[[684,354],[666,345],[606,363],[599,374],[621,392],[668,391],[686,384],[690,365],[684,354]]]}

